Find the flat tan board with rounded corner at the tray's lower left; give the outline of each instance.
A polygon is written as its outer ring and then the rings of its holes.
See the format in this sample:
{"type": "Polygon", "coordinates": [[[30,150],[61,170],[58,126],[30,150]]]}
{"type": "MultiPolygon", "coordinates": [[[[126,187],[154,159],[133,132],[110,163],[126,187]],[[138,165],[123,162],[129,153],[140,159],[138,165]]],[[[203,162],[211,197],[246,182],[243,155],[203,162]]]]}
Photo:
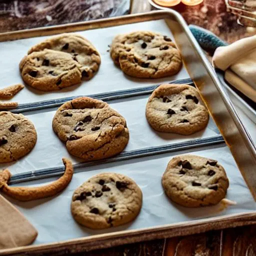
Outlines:
{"type": "Polygon", "coordinates": [[[36,236],[32,224],[0,195],[0,249],[28,245],[36,236]]]}

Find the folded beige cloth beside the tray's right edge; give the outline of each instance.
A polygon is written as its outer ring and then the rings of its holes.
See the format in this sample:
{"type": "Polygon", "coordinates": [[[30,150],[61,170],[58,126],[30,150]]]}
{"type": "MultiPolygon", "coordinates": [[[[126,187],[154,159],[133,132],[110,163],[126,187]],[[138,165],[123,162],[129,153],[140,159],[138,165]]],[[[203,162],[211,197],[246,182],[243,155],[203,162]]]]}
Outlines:
{"type": "Polygon", "coordinates": [[[256,35],[218,47],[212,57],[227,82],[256,102],[256,35]]]}

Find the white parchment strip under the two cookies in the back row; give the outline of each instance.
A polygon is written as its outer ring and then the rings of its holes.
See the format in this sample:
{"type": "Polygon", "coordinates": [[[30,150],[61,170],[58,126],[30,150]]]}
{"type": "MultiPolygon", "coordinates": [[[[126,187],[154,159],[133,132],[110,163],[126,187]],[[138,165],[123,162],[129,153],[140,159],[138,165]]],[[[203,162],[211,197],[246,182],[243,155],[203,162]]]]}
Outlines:
{"type": "MultiPolygon", "coordinates": [[[[55,92],[43,92],[33,89],[30,86],[26,86],[23,90],[16,94],[12,100],[17,101],[18,103],[28,103],[67,96],[89,95],[93,93],[137,88],[162,83],[164,81],[171,81],[174,79],[189,78],[184,65],[176,75],[159,79],[139,79],[124,75],[123,72],[114,65],[112,59],[110,58],[110,54],[107,52],[109,49],[108,45],[111,44],[112,39],[116,34],[134,30],[150,30],[160,32],[173,39],[173,36],[164,20],[146,21],[136,24],[100,28],[100,31],[99,29],[79,31],[77,33],[89,39],[100,53],[101,64],[96,75],[89,81],[83,81],[80,85],[74,85],[55,92]]],[[[15,83],[23,83],[18,68],[21,58],[27,53],[27,50],[32,45],[48,37],[49,36],[41,36],[0,42],[0,88],[4,88],[15,83]]]]}

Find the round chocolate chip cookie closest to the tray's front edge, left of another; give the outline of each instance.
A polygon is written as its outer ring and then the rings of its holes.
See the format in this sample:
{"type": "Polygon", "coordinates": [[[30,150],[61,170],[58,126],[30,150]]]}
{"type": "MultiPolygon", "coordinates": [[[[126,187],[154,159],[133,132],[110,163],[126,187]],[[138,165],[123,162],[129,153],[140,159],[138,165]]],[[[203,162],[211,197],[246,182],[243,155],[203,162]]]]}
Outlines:
{"type": "Polygon", "coordinates": [[[132,179],[118,173],[100,173],[74,191],[71,212],[78,223],[100,229],[133,220],[141,204],[141,190],[132,179]]]}

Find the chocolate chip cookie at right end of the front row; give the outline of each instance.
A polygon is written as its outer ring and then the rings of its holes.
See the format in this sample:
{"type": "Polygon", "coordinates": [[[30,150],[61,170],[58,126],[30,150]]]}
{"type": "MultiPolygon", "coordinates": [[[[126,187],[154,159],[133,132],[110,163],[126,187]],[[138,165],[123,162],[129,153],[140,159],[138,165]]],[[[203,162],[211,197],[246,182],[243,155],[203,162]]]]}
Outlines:
{"type": "Polygon", "coordinates": [[[216,160],[197,155],[173,157],[162,176],[167,196],[186,207],[217,204],[228,185],[225,170],[216,160]]]}

